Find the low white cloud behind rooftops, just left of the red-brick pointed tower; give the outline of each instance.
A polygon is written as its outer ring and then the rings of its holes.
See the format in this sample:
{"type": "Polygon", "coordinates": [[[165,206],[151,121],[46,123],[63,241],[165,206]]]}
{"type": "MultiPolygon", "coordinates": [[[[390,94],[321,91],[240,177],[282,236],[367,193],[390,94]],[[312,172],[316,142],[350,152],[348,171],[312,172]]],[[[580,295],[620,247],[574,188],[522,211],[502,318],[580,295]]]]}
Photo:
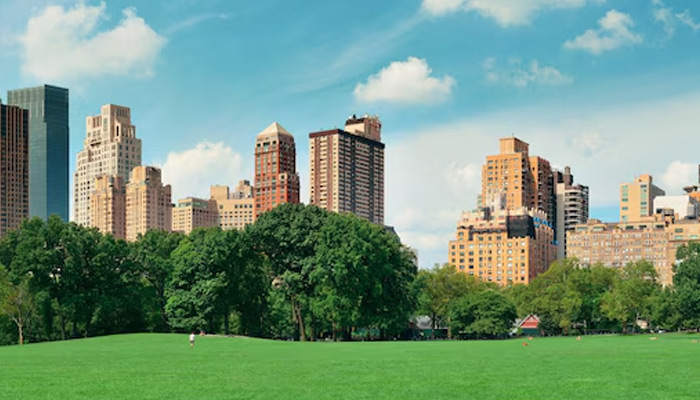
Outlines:
{"type": "Polygon", "coordinates": [[[170,152],[161,167],[163,183],[172,185],[173,202],[188,196],[209,198],[211,185],[246,179],[242,157],[223,143],[200,142],[194,148],[170,152]]]}

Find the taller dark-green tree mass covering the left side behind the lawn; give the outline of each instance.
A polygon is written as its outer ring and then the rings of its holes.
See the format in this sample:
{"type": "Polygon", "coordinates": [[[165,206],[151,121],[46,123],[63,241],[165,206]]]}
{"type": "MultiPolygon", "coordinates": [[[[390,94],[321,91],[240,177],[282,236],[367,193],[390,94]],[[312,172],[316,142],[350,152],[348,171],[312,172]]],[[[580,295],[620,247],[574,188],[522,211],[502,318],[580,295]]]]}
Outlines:
{"type": "Polygon", "coordinates": [[[415,309],[413,253],[384,227],[282,205],[243,231],[27,220],[0,240],[0,343],[125,332],[395,337],[415,309]]]}

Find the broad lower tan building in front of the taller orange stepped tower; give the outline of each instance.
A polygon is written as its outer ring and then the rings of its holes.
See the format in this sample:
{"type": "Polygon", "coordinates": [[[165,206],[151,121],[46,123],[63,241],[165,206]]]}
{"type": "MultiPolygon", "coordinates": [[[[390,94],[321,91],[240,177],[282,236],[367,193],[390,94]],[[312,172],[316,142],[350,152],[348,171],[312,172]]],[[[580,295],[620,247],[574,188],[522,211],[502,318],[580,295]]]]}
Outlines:
{"type": "Polygon", "coordinates": [[[554,230],[545,219],[544,212],[524,207],[463,213],[449,262],[483,281],[529,284],[556,258],[554,230]]]}

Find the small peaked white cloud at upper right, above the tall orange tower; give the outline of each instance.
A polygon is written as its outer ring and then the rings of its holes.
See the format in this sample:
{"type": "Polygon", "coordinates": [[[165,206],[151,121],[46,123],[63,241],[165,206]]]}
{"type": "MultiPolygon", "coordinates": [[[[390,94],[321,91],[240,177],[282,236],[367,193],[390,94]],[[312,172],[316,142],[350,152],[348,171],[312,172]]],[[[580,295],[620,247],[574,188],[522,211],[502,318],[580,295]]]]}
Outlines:
{"type": "Polygon", "coordinates": [[[600,20],[598,29],[589,29],[583,35],[564,43],[564,48],[586,50],[593,54],[615,50],[643,42],[642,36],[631,30],[634,20],[629,14],[610,10],[600,20]]]}

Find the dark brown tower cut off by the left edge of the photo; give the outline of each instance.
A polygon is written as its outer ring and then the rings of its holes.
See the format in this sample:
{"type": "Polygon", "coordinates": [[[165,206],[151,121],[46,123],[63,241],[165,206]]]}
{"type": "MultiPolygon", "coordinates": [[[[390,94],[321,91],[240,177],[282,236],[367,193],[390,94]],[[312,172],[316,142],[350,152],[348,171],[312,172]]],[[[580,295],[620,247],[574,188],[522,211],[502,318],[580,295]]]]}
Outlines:
{"type": "Polygon", "coordinates": [[[0,103],[0,237],[29,215],[29,112],[0,103]]]}

